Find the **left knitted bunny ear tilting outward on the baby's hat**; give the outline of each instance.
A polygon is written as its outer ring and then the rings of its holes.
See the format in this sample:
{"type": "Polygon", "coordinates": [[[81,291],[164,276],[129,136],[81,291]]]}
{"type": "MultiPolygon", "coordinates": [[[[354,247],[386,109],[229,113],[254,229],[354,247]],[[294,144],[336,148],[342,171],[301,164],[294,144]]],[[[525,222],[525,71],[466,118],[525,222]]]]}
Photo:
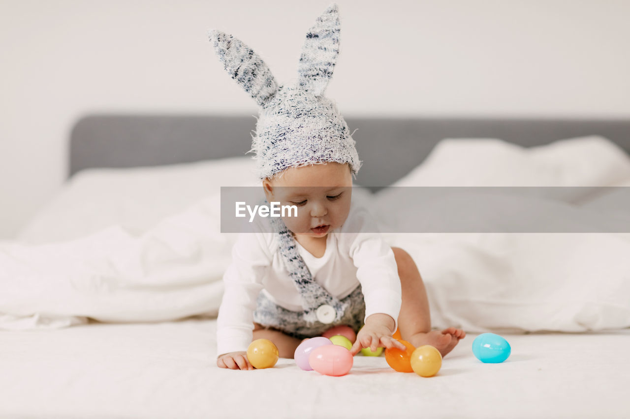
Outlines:
{"type": "Polygon", "coordinates": [[[258,54],[234,36],[217,30],[210,30],[209,36],[227,73],[256,103],[265,106],[278,91],[278,84],[269,67],[258,54]]]}

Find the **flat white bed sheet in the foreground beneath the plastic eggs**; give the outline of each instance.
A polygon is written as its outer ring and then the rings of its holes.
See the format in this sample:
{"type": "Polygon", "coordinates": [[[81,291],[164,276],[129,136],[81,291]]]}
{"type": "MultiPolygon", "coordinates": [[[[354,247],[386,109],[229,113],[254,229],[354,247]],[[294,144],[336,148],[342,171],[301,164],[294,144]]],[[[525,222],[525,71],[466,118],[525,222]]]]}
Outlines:
{"type": "Polygon", "coordinates": [[[7,418],[612,418],[630,416],[630,329],[504,335],[512,355],[482,364],[469,334],[438,376],[355,357],[326,377],[292,359],[273,369],[215,366],[211,319],[91,323],[0,332],[7,418]]]}

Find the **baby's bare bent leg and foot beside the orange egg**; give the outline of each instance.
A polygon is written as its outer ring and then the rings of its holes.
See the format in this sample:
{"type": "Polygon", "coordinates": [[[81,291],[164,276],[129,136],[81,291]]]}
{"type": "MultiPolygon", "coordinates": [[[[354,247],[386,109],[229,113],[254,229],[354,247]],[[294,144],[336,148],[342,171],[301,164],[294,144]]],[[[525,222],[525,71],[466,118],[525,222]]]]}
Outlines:
{"type": "Polygon", "coordinates": [[[457,345],[466,332],[449,327],[444,330],[431,330],[431,315],[427,290],[420,272],[411,256],[399,247],[392,247],[398,276],[403,291],[403,304],[398,315],[398,330],[404,340],[416,348],[421,345],[436,347],[442,356],[457,345]]]}

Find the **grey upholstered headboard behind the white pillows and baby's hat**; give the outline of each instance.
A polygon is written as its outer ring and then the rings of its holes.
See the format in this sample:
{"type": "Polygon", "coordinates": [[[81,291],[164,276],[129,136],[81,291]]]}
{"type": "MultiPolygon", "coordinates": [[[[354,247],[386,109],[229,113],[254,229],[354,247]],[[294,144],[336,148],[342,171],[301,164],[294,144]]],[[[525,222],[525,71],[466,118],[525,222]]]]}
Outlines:
{"type": "MultiPolygon", "coordinates": [[[[346,118],[364,166],[357,184],[387,186],[443,138],[501,138],[532,147],[602,135],[630,152],[629,120],[346,118]]],[[[245,155],[253,116],[88,115],[72,128],[69,175],[89,167],[176,164],[245,155]]],[[[251,156],[252,154],[248,154],[251,156]]]]}

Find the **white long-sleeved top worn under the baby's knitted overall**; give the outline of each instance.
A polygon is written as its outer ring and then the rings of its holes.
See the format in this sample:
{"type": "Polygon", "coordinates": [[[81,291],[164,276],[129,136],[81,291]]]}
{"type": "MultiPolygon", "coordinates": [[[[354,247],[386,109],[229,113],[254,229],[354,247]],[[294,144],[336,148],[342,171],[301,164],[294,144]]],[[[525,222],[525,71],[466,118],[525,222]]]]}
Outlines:
{"type": "MultiPolygon", "coordinates": [[[[301,296],[280,254],[277,233],[257,217],[254,233],[241,233],[223,281],[225,291],[217,318],[217,354],[247,350],[253,337],[253,311],[258,293],[287,310],[302,311],[301,296]]],[[[361,284],[365,318],[385,313],[398,327],[401,284],[394,252],[362,206],[350,204],[348,218],[326,237],[326,252],[315,257],[297,243],[313,279],[341,299],[361,284]]],[[[365,320],[365,319],[364,319],[365,320]]]]}

